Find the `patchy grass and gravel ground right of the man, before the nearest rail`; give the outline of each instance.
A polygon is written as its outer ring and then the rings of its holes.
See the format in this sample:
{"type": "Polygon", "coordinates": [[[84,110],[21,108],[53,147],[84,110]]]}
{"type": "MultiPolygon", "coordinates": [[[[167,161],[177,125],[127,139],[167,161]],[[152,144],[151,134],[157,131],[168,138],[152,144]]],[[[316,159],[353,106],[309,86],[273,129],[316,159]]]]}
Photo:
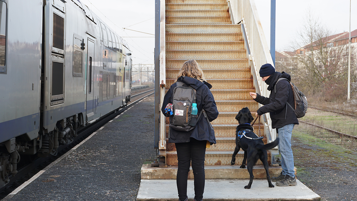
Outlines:
{"type": "Polygon", "coordinates": [[[299,132],[299,127],[292,137],[297,179],[322,201],[357,201],[357,153],[299,132]]]}

